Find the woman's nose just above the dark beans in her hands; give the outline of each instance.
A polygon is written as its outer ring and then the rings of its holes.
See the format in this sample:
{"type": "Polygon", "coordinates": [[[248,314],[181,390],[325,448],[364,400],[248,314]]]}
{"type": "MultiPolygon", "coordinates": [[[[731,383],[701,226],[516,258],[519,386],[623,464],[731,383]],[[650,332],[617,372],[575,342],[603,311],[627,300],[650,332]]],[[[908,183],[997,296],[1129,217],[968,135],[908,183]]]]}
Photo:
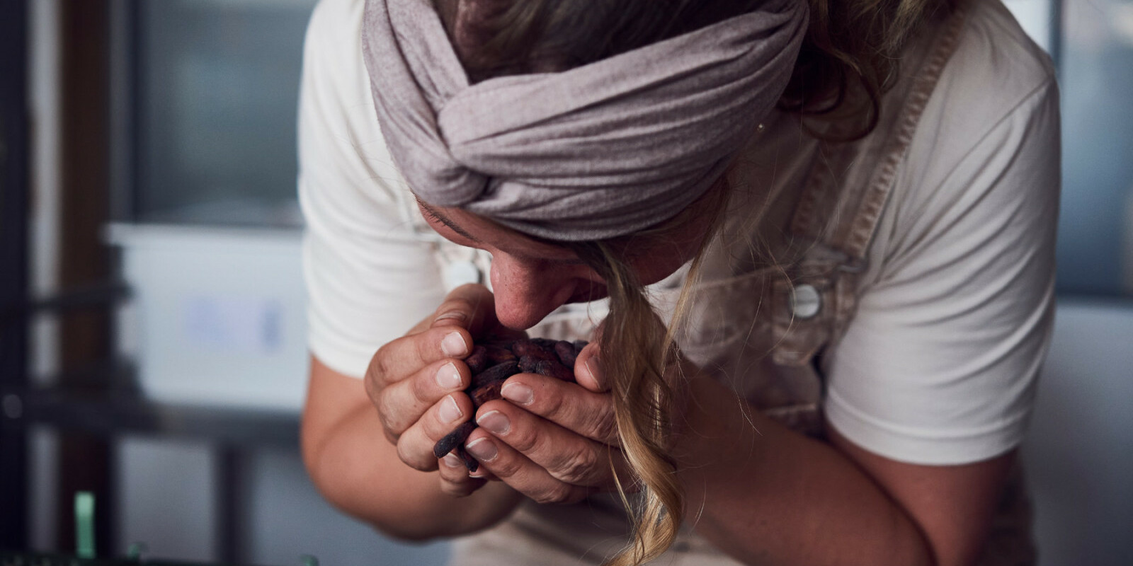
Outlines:
{"type": "Polygon", "coordinates": [[[492,291],[500,324],[526,331],[574,294],[577,277],[566,271],[503,255],[492,258],[492,291]]]}

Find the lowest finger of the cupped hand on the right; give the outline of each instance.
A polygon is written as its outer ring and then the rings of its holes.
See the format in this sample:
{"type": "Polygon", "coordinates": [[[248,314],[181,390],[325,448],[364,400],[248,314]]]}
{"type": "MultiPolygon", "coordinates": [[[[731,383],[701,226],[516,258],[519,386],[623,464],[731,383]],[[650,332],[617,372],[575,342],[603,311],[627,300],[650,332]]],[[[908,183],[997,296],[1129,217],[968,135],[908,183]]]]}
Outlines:
{"type": "Polygon", "coordinates": [[[553,478],[543,466],[531,462],[487,431],[474,430],[465,446],[480,463],[480,468],[536,503],[578,503],[595,491],[553,478]]]}

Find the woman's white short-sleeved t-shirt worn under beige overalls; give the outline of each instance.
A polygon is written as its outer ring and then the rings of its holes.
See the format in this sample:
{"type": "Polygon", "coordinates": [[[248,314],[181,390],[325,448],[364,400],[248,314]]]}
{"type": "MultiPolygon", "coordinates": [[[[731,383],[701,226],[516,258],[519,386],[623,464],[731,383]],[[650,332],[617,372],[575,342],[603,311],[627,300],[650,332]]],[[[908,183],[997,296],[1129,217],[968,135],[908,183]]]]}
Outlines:
{"type": "MultiPolygon", "coordinates": [[[[446,286],[438,237],[378,129],[363,5],[316,7],[299,111],[309,346],[356,377],[446,286]]],[[[780,192],[799,183],[792,166],[813,162],[801,157],[751,155],[782,165],[759,180],[780,192]]],[[[832,426],[922,464],[980,461],[1020,443],[1053,316],[1059,175],[1049,59],[998,0],[977,0],[898,165],[857,314],[823,357],[832,426]]]]}

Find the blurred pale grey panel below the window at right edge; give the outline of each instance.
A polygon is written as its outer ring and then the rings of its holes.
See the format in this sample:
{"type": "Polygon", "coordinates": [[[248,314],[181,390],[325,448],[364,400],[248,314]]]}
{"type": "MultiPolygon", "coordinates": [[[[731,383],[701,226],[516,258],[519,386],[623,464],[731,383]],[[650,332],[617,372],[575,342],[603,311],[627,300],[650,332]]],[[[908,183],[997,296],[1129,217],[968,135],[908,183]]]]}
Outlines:
{"type": "Polygon", "coordinates": [[[1133,564],[1133,307],[1062,301],[1024,461],[1042,566],[1133,564]]]}

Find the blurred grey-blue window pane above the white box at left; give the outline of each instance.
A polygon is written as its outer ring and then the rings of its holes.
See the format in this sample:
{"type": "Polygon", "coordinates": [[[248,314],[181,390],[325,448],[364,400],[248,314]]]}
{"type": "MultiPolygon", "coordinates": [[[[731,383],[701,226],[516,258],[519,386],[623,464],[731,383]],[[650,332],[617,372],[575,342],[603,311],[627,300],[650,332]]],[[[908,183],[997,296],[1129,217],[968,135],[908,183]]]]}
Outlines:
{"type": "Polygon", "coordinates": [[[296,108],[314,3],[138,3],[139,220],[299,222],[296,108]]]}

